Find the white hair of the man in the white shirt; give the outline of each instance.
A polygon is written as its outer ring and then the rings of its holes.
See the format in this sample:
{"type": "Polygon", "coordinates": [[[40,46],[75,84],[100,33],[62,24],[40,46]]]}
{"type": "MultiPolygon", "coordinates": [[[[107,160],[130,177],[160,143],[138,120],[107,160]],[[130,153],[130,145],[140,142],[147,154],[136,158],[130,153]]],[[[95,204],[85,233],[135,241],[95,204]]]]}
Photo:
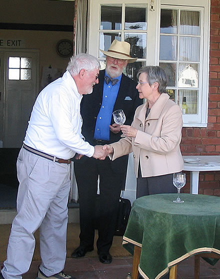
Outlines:
{"type": "Polygon", "coordinates": [[[79,53],[70,58],[66,70],[68,70],[71,75],[75,76],[81,69],[92,71],[95,68],[100,68],[100,63],[96,57],[87,53],[79,53]]]}

